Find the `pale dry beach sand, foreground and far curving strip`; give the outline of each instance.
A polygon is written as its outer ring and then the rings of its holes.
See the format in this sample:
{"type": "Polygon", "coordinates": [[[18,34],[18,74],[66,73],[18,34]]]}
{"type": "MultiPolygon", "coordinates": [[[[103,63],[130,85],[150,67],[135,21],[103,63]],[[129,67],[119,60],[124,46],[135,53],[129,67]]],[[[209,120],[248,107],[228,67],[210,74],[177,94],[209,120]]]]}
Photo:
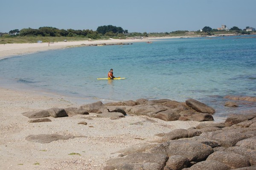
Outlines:
{"type": "MultiPolygon", "coordinates": [[[[142,40],[107,40],[108,43],[132,43],[142,40]]],[[[144,40],[147,41],[147,40],[144,40]]],[[[61,49],[93,42],[58,42],[1,44],[0,58],[49,49],[61,49]]],[[[21,113],[52,107],[80,107],[65,96],[43,92],[0,88],[0,169],[1,170],[102,170],[106,161],[117,157],[119,150],[149,143],[160,138],[155,134],[195,127],[202,122],[163,121],[146,116],[128,115],[111,120],[96,114],[52,118],[51,122],[29,123],[21,113]],[[87,125],[78,124],[81,121],[87,125]],[[27,141],[28,135],[58,134],[84,136],[41,144],[27,141]],[[69,155],[70,153],[77,153],[69,155]],[[78,155],[80,154],[80,155],[78,155]]]]}

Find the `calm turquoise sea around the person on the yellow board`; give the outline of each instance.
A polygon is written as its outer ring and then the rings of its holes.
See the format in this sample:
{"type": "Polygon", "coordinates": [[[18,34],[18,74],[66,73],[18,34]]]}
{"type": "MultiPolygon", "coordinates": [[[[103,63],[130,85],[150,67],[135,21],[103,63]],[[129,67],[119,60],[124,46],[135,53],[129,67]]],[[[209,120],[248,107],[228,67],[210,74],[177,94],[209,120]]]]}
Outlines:
{"type": "Polygon", "coordinates": [[[170,99],[201,101],[216,117],[256,110],[224,107],[227,95],[256,97],[256,35],[156,39],[83,46],[0,60],[0,86],[63,95],[79,104],[170,99]],[[115,77],[107,78],[113,69],[115,77]]]}

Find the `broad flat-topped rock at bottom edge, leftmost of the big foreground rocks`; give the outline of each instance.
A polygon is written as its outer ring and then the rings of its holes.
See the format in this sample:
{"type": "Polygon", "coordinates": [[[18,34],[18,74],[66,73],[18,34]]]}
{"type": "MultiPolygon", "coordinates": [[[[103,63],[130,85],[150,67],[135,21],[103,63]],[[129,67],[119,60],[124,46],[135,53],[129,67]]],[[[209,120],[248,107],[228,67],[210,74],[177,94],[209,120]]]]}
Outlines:
{"type": "Polygon", "coordinates": [[[151,153],[133,153],[131,155],[113,158],[107,161],[108,166],[117,170],[163,170],[168,157],[151,153]]]}

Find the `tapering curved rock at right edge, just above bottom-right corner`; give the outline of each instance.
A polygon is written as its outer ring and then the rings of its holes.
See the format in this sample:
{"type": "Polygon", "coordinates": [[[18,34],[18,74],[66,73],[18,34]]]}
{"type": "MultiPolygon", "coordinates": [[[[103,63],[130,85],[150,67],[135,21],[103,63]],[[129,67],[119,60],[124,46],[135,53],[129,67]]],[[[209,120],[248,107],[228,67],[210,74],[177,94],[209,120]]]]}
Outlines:
{"type": "Polygon", "coordinates": [[[256,150],[250,150],[245,147],[229,147],[226,151],[245,156],[245,158],[250,161],[251,165],[256,165],[256,150]]]}

